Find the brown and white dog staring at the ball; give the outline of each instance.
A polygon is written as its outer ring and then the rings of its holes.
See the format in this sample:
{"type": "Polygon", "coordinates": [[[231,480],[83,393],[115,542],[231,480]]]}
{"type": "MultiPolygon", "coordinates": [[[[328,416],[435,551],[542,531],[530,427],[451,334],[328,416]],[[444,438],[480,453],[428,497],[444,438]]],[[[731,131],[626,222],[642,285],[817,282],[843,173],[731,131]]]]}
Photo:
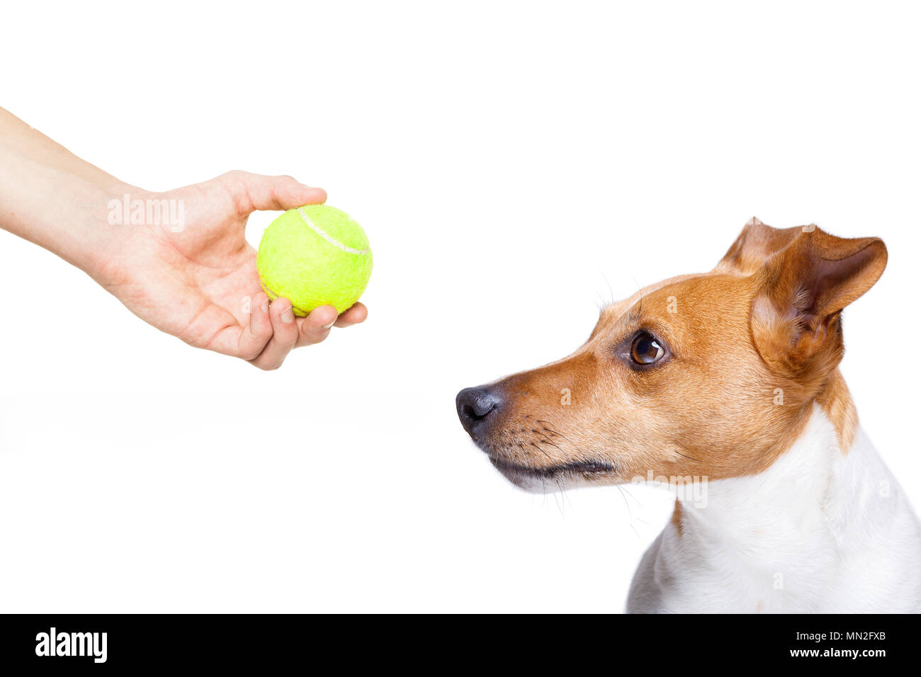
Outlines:
{"type": "Polygon", "coordinates": [[[838,369],[842,310],[886,262],[878,238],[752,218],[711,272],[607,306],[575,353],[461,391],[458,416],[526,490],[705,490],[677,492],[628,613],[921,611],[921,526],[838,369]]]}

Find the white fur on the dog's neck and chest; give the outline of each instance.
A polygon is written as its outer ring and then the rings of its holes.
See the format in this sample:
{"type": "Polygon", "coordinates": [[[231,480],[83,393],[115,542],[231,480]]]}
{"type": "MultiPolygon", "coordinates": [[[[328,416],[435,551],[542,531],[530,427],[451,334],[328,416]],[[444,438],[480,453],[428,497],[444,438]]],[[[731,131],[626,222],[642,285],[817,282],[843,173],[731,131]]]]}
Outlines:
{"type": "Polygon", "coordinates": [[[842,454],[816,407],[768,470],[706,491],[643,556],[628,612],[921,610],[921,528],[862,430],[842,454]]]}

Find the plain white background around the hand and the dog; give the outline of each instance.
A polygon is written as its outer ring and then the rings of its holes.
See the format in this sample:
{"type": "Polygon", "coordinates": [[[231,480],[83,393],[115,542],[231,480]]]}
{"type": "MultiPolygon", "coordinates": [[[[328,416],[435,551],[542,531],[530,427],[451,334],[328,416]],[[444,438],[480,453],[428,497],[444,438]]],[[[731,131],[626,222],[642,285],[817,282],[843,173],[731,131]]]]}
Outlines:
{"type": "Polygon", "coordinates": [[[670,497],[521,493],[454,395],[752,215],[886,240],[842,368],[921,505],[915,10],[637,5],[6,6],[0,105],[151,190],[321,185],[375,271],[266,373],[0,233],[0,610],[620,611],[670,497]]]}

